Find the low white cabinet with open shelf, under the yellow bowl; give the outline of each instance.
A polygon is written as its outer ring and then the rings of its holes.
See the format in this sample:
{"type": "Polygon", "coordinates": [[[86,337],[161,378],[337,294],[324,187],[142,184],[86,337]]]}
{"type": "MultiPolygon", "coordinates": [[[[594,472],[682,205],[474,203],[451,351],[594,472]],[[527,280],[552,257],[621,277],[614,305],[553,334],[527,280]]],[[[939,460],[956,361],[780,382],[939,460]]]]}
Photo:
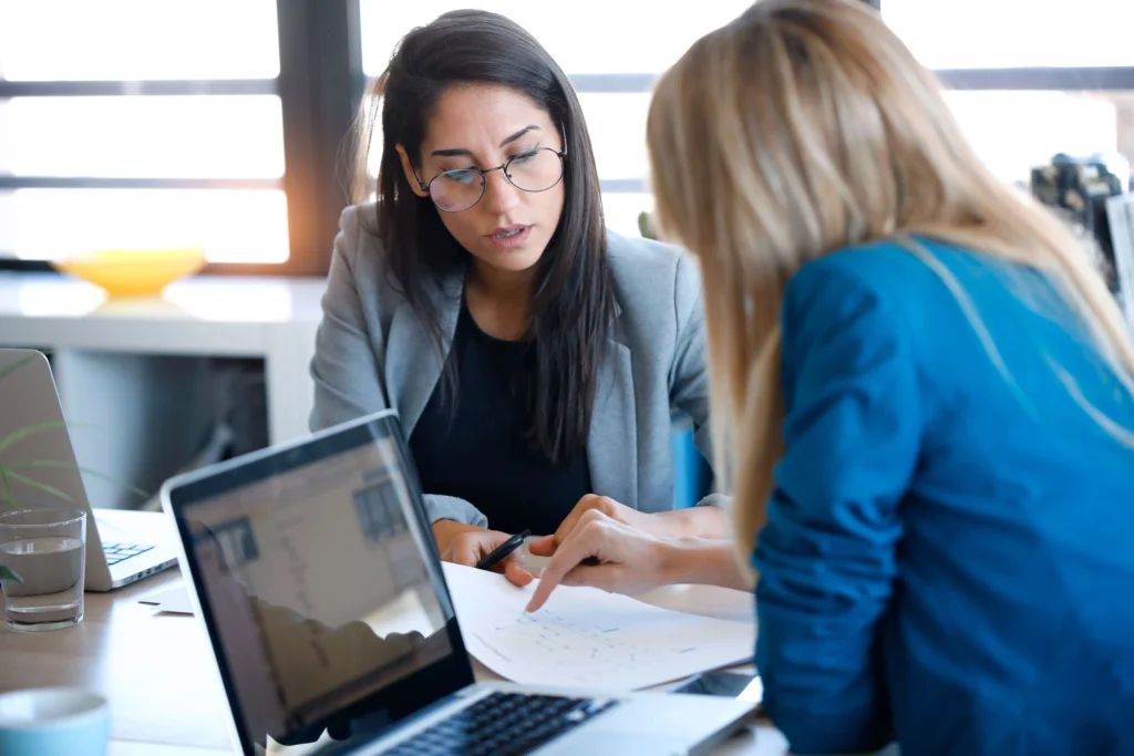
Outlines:
{"type": "MultiPolygon", "coordinates": [[[[70,277],[0,272],[0,347],[51,349],[68,421],[115,430],[73,432],[79,464],[149,491],[211,428],[219,391],[205,358],[263,359],[269,442],[306,435],[324,289],[319,278],[203,275],[160,297],[108,299],[70,277]]],[[[138,504],[84,478],[95,507],[138,504]]]]}

